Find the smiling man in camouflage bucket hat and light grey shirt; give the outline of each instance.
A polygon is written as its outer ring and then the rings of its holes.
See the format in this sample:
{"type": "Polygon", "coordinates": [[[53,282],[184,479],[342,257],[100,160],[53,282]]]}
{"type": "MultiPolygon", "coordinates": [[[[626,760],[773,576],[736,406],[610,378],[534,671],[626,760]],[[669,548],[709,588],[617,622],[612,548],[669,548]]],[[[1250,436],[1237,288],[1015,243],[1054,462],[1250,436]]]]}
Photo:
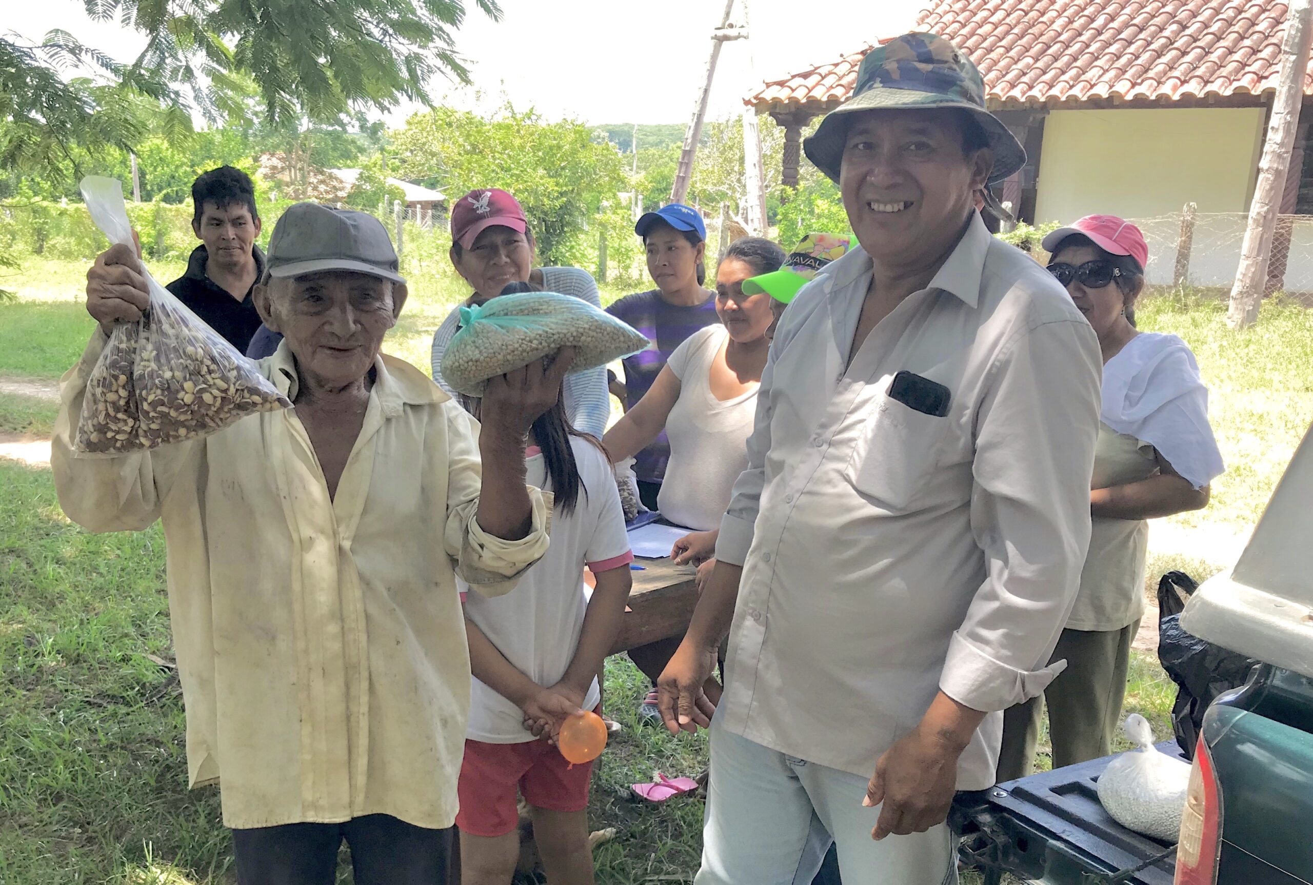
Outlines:
{"type": "Polygon", "coordinates": [[[974,194],[1024,163],[932,34],[873,49],[806,142],[859,246],[793,298],[717,566],[659,681],[671,730],[729,633],[699,885],[956,881],[955,789],[994,783],[1090,538],[1099,345],[974,194]]]}

